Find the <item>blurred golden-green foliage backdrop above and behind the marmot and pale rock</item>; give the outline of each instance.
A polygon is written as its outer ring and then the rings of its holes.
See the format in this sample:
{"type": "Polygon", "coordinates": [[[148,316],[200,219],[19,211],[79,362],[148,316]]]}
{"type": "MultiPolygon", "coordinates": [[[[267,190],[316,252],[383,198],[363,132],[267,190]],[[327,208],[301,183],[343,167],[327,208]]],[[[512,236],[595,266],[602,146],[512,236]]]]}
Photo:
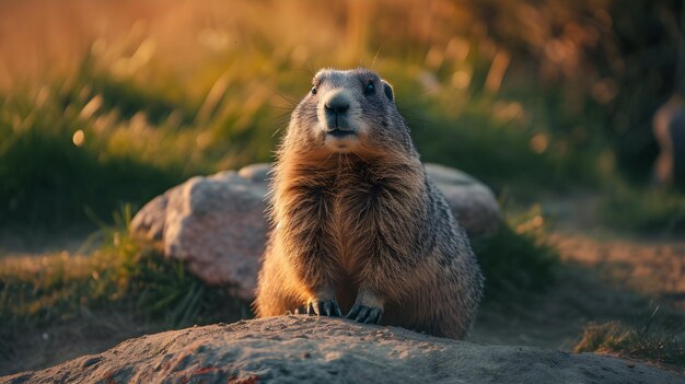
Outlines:
{"type": "Polygon", "coordinates": [[[104,216],[191,175],[268,161],[321,67],[375,69],[395,85],[425,160],[529,201],[607,176],[646,184],[651,116],[683,88],[675,0],[0,9],[9,223],[104,216]]]}

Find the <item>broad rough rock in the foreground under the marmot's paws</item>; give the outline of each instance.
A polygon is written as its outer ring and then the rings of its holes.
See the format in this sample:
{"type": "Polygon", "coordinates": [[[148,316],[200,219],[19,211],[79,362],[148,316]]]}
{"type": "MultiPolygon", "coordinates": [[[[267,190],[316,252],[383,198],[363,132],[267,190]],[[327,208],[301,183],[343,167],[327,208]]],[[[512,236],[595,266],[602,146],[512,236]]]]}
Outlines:
{"type": "Polygon", "coordinates": [[[282,316],[143,336],[0,383],[685,383],[592,353],[454,341],[339,318],[282,316]]]}

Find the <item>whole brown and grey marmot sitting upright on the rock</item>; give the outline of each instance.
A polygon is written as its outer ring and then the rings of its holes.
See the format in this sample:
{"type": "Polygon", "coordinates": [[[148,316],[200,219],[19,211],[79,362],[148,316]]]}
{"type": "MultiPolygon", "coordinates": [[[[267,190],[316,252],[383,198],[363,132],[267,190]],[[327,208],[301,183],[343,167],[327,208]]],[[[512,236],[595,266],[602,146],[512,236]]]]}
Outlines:
{"type": "Polygon", "coordinates": [[[316,73],[277,152],[269,198],[257,316],[304,306],[466,336],[480,269],[376,73],[316,73]]]}

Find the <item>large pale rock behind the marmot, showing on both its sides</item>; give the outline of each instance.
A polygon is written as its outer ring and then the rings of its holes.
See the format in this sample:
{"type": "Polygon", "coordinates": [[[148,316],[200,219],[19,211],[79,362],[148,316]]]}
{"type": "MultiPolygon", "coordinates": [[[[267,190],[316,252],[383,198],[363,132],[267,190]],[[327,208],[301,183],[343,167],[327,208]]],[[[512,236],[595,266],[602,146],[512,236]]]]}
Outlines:
{"type": "MultiPolygon", "coordinates": [[[[267,238],[269,170],[270,164],[254,164],[193,177],[146,205],[131,231],[161,241],[167,257],[184,260],[207,283],[231,287],[251,300],[267,238]]],[[[499,206],[488,187],[446,166],[428,164],[427,171],[468,234],[497,229],[499,206]]]]}

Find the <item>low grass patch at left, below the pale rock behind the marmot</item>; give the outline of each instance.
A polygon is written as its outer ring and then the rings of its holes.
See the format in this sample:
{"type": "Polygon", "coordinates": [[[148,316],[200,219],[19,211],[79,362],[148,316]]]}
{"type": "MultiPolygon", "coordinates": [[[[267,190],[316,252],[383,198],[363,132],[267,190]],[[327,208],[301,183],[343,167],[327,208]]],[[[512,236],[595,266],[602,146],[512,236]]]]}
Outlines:
{"type": "Polygon", "coordinates": [[[14,334],[78,319],[84,310],[115,309],[140,314],[162,328],[186,327],[251,316],[247,303],[225,288],[212,288],[178,260],[132,238],[121,223],[130,210],[91,241],[90,255],[67,253],[0,260],[0,345],[14,334]]]}

